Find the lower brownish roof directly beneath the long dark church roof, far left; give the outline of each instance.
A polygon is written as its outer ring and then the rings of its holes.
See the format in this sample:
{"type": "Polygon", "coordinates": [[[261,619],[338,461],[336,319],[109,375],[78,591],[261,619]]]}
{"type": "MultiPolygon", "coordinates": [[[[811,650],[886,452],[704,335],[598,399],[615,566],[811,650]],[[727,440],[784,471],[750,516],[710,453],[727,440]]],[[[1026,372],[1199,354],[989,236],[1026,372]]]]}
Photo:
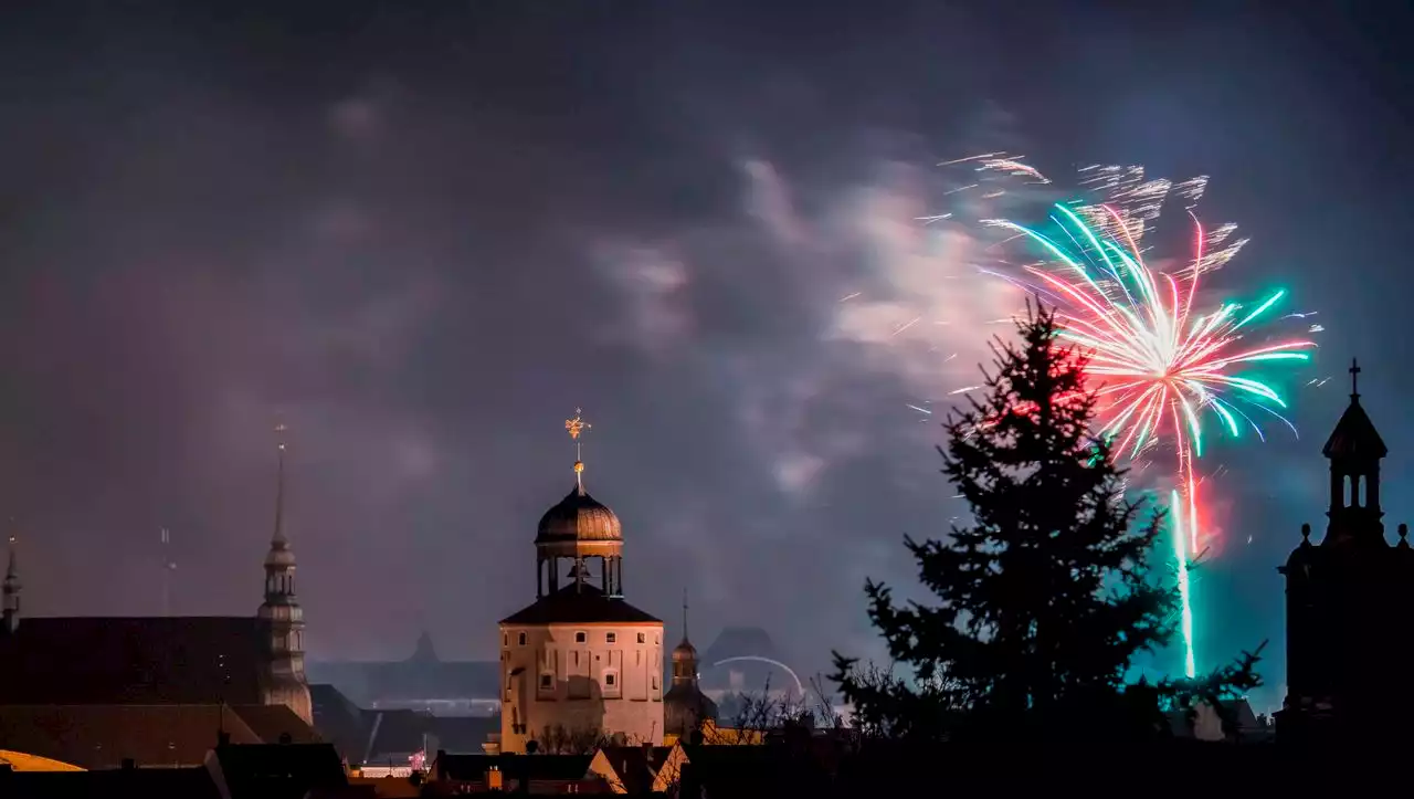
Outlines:
{"type": "Polygon", "coordinates": [[[88,769],[199,765],[225,728],[236,744],[260,737],[235,708],[216,704],[89,704],[0,707],[0,748],[88,769]]]}

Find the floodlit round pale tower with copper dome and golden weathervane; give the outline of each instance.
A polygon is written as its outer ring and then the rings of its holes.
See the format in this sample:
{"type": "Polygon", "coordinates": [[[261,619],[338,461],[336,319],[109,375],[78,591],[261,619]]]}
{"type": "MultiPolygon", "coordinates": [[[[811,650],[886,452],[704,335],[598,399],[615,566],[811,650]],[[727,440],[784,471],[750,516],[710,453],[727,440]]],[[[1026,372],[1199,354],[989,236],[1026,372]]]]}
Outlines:
{"type": "MultiPolygon", "coordinates": [[[[577,445],[585,428],[566,421],[577,445]]],[[[499,625],[503,752],[663,738],[663,622],[624,600],[618,516],[584,489],[583,461],[574,472],[536,530],[536,601],[499,625]]]]}

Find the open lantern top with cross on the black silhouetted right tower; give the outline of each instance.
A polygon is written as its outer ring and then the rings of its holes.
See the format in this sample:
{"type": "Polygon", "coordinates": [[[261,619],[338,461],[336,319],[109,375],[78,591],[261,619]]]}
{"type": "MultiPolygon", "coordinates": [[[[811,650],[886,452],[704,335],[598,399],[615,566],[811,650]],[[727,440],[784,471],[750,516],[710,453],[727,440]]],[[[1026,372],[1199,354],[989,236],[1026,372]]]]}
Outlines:
{"type": "Polygon", "coordinates": [[[1326,440],[1322,454],[1331,461],[1331,518],[1328,540],[1384,543],[1380,518],[1380,461],[1389,454],[1384,440],[1360,406],[1360,365],[1350,361],[1350,406],[1326,440]]]}

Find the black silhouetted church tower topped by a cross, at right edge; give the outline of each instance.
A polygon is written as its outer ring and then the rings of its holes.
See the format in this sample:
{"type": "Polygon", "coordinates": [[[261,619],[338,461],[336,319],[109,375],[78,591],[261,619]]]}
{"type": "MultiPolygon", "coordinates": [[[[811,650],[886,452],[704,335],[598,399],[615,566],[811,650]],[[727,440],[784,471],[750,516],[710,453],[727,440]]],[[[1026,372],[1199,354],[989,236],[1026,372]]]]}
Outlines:
{"type": "Polygon", "coordinates": [[[1301,544],[1278,568],[1287,583],[1287,697],[1277,735],[1288,744],[1352,741],[1373,730],[1387,737],[1407,727],[1414,708],[1406,680],[1380,676],[1414,655],[1406,619],[1414,549],[1406,525],[1394,546],[1384,536],[1380,461],[1389,450],[1360,404],[1359,372],[1352,363],[1350,404],[1322,450],[1331,461],[1326,533],[1315,543],[1302,525],[1301,544]]]}

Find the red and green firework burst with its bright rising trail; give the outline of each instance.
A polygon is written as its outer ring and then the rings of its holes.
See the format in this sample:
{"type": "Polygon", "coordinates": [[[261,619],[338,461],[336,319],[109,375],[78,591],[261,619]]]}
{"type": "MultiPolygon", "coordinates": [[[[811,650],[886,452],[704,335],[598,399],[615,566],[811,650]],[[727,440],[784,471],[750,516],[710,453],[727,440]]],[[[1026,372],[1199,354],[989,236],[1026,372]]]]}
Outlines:
{"type": "MultiPolygon", "coordinates": [[[[954,161],[978,173],[1019,175],[1049,182],[1004,153],[954,161]]],[[[1100,400],[1100,430],[1131,462],[1154,448],[1175,454],[1178,489],[1171,516],[1175,540],[1185,673],[1196,672],[1189,567],[1208,549],[1195,461],[1203,454],[1205,424],[1216,421],[1229,436],[1251,430],[1264,440],[1260,419],[1275,417],[1295,431],[1281,410],[1285,400],[1266,382],[1240,372],[1251,365],[1309,359],[1311,341],[1249,344],[1253,328],[1282,300],[1275,291],[1254,305],[1202,303],[1202,276],[1220,269],[1241,249],[1236,225],[1205,231],[1193,208],[1206,178],[1181,184],[1145,180],[1141,167],[1085,167],[1082,184],[1104,202],[1056,204],[1045,229],[1007,219],[983,219],[1012,239],[1027,239],[1045,255],[1041,263],[983,269],[1044,296],[1059,311],[1060,335],[1089,354],[1087,372],[1100,400]],[[1184,266],[1151,269],[1141,246],[1165,201],[1179,198],[1193,223],[1193,252],[1184,266]],[[1019,274],[1018,274],[1019,272],[1019,274]]],[[[986,182],[987,178],[983,178],[986,182]]],[[[995,197],[994,185],[986,188],[995,197]]],[[[1010,240],[1010,239],[1008,239],[1010,240]]],[[[1291,317],[1292,314],[1288,314],[1291,317]]],[[[1295,314],[1299,318],[1299,314],[1295,314]]],[[[1315,332],[1319,325],[1312,325],[1315,332]]]]}

